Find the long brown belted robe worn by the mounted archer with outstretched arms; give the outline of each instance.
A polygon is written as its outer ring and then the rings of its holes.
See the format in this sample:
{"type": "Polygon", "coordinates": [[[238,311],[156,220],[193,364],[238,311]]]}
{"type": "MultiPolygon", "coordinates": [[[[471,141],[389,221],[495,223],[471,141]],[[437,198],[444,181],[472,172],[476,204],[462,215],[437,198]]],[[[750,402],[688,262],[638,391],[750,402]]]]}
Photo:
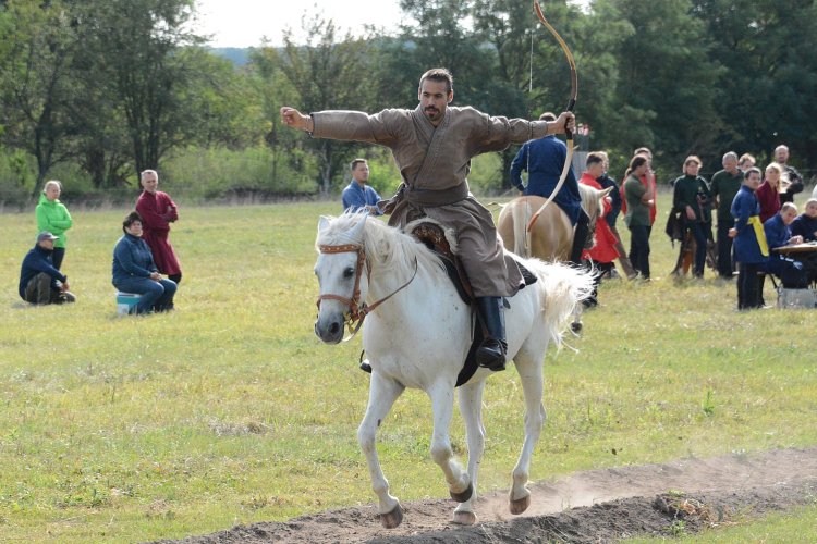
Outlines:
{"type": "Polygon", "coordinates": [[[522,275],[503,251],[493,217],[471,195],[471,159],[524,144],[547,133],[547,123],[491,118],[473,108],[448,108],[438,126],[415,110],[383,110],[369,115],[356,111],[313,113],[313,136],[368,141],[391,149],[403,178],[386,210],[389,224],[402,227],[422,217],[456,232],[459,256],[474,294],[510,297],[522,275]]]}

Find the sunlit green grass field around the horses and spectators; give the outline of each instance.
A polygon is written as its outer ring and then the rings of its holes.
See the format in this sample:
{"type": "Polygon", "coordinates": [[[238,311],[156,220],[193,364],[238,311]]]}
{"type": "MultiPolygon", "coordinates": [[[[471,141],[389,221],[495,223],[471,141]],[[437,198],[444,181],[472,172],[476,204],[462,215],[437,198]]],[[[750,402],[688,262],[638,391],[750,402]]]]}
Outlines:
{"type": "MultiPolygon", "coordinates": [[[[313,334],[318,217],[338,211],[182,207],[171,235],[184,270],[179,310],[147,318],[115,317],[110,267],[124,211],[74,214],[63,272],[78,301],[42,308],[16,293],[34,214],[0,215],[0,541],[181,537],[373,500],[356,442],[368,392],[361,342],[325,346],[313,334]]],[[[817,444],[815,313],[737,312],[734,284],[711,271],[671,279],[663,221],[654,283],[603,284],[603,307],[569,339],[578,353],[549,351],[532,480],[817,444]]],[[[485,406],[483,492],[511,483],[524,410],[515,371],[488,382],[485,406]]],[[[430,425],[427,398],[407,392],[379,434],[403,500],[448,495],[428,456],[430,425]]],[[[462,455],[464,435],[455,418],[462,455]]],[[[815,516],[747,528],[782,534],[815,516]]],[[[740,534],[690,542],[746,542],[740,534]]]]}

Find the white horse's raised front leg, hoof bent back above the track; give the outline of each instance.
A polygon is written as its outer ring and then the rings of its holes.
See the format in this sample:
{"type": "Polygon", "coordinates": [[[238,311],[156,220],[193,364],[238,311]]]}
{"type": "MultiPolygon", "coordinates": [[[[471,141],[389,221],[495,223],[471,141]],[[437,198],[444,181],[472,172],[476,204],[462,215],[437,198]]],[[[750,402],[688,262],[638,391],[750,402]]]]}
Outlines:
{"type": "Polygon", "coordinates": [[[431,399],[434,411],[434,435],[431,436],[431,460],[440,466],[446,474],[451,498],[464,503],[471,498],[474,487],[467,472],[463,472],[453,460],[449,430],[454,412],[454,384],[435,384],[426,391],[431,399]]]}

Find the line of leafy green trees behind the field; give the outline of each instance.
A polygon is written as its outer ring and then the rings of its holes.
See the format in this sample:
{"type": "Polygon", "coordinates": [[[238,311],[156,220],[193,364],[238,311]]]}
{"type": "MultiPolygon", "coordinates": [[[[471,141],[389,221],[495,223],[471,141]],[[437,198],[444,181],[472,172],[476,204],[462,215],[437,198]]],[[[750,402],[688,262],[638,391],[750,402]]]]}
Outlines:
{"type": "MultiPolygon", "coordinates": [[[[0,0],[0,200],[28,199],[56,173],[83,191],[133,190],[145,169],[208,196],[332,194],[351,159],[386,160],[383,151],[282,127],[280,106],[414,108],[417,79],[432,66],[454,74],[456,106],[535,119],[566,104],[568,62],[531,1],[400,7],[397,33],[362,37],[305,12],[282,47],[259,44],[236,69],[195,32],[194,0],[0,0]],[[203,180],[191,174],[203,158],[210,172],[245,166],[203,180]]],[[[642,146],[666,178],[687,154],[715,171],[725,151],[765,164],[779,144],[798,168],[817,164],[817,2],[541,7],[576,60],[587,145],[607,150],[614,171],[642,146]]],[[[497,191],[510,187],[515,152],[498,153],[497,191]]]]}

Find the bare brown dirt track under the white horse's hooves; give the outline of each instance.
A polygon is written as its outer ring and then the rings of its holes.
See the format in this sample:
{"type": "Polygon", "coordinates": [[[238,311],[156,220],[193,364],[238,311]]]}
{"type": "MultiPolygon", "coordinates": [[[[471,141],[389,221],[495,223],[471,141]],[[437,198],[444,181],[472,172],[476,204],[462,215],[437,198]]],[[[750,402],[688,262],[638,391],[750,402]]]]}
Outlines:
{"type": "Polygon", "coordinates": [[[450,522],[455,505],[449,499],[410,500],[402,503],[403,523],[393,530],[381,527],[369,504],[159,543],[599,544],[669,534],[679,521],[690,533],[817,502],[817,447],[592,470],[529,489],[531,507],[515,517],[505,492],[480,496],[473,527],[450,522]]]}

